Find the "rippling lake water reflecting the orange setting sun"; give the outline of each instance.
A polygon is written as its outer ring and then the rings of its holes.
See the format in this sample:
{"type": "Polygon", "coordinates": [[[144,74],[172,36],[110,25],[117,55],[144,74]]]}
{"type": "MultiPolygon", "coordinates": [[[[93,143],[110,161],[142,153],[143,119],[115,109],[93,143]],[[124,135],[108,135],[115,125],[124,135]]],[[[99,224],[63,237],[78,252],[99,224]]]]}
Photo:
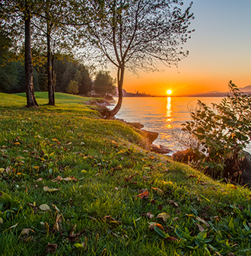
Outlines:
{"type": "MultiPolygon", "coordinates": [[[[117,98],[114,99],[117,101],[117,98]]],[[[154,144],[167,146],[175,152],[180,150],[180,146],[173,137],[173,133],[181,130],[182,123],[190,120],[189,110],[196,107],[198,100],[210,105],[211,103],[220,103],[221,99],[125,97],[122,108],[116,117],[128,122],[141,123],[144,125],[144,130],[159,133],[154,144]]],[[[249,148],[248,151],[251,152],[251,149],[249,148]]]]}

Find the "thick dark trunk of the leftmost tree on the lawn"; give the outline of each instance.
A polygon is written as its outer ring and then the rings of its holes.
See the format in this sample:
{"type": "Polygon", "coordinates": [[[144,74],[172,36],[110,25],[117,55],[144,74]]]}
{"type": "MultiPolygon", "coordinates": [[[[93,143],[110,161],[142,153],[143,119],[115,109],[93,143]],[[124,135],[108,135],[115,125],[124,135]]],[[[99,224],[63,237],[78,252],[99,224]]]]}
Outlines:
{"type": "Polygon", "coordinates": [[[33,87],[33,64],[30,46],[30,7],[25,5],[27,16],[25,19],[25,83],[27,107],[38,107],[33,87]]]}

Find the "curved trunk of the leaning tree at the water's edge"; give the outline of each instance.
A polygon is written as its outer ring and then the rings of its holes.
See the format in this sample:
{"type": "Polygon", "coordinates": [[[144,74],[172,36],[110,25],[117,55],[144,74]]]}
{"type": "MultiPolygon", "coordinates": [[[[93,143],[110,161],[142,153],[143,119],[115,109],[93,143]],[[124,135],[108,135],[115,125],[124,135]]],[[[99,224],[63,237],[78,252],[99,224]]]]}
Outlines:
{"type": "Polygon", "coordinates": [[[113,108],[113,110],[106,111],[106,119],[113,118],[120,110],[122,106],[122,86],[124,83],[124,75],[125,75],[125,65],[122,64],[122,66],[119,66],[118,72],[117,72],[117,79],[118,79],[118,92],[119,92],[119,100],[116,104],[116,106],[113,108]]]}

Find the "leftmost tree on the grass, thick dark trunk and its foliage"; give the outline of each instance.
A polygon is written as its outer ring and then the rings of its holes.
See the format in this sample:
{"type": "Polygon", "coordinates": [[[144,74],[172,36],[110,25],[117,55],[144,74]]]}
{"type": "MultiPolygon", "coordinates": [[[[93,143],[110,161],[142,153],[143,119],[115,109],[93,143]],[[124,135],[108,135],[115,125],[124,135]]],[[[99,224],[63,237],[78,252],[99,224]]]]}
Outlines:
{"type": "Polygon", "coordinates": [[[33,59],[31,55],[31,30],[30,24],[35,12],[40,10],[40,2],[32,0],[2,0],[0,4],[0,24],[5,35],[11,38],[13,45],[23,48],[24,38],[24,62],[25,84],[27,94],[27,107],[37,107],[37,101],[33,88],[33,59]]]}

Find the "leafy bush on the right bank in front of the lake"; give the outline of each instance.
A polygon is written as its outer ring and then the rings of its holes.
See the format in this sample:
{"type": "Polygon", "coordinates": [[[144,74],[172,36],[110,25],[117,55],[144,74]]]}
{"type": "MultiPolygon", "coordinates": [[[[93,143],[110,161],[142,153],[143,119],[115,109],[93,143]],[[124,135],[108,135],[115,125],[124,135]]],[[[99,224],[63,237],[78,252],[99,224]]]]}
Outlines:
{"type": "Polygon", "coordinates": [[[192,120],[183,123],[183,132],[199,141],[195,151],[202,167],[211,168],[212,174],[221,174],[221,178],[226,164],[233,173],[240,170],[243,149],[251,139],[251,98],[231,81],[228,86],[230,93],[220,104],[209,107],[198,101],[192,120]]]}

